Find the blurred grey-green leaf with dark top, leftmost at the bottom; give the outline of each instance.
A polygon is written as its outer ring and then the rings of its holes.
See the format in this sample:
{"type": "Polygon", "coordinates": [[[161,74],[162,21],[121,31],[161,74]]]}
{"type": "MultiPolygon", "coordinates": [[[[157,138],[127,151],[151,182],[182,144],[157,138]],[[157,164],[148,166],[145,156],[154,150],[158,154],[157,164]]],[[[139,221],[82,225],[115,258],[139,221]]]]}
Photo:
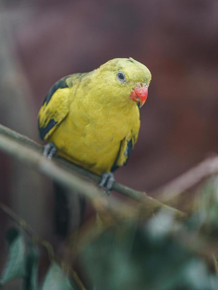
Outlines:
{"type": "Polygon", "coordinates": [[[0,284],[24,277],[25,271],[25,241],[23,235],[16,229],[7,231],[6,239],[9,246],[8,258],[1,274],[0,284]]]}

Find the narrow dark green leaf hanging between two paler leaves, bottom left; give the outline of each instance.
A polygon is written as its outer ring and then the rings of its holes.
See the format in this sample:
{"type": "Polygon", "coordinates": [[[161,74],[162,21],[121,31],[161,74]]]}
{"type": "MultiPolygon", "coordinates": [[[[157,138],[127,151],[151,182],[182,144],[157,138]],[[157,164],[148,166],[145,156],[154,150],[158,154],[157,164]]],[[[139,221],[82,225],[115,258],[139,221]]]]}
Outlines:
{"type": "Polygon", "coordinates": [[[39,250],[31,242],[26,255],[26,277],[23,283],[23,290],[38,289],[38,262],[39,250]]]}

